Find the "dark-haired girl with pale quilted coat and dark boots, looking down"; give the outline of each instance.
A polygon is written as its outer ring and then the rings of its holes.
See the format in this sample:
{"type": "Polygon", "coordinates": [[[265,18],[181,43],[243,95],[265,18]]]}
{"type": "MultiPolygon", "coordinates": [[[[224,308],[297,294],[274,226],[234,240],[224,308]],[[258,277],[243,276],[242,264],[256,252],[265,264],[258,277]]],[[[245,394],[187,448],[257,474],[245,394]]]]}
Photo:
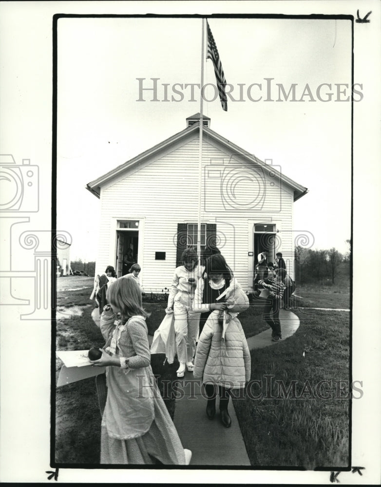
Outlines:
{"type": "Polygon", "coordinates": [[[248,298],[221,254],[205,262],[197,282],[193,311],[201,313],[200,336],[194,359],[195,378],[202,378],[208,396],[207,416],[216,412],[216,388],[222,424],[229,428],[230,391],[243,389],[250,379],[251,363],[240,311],[248,308],[248,298]]]}

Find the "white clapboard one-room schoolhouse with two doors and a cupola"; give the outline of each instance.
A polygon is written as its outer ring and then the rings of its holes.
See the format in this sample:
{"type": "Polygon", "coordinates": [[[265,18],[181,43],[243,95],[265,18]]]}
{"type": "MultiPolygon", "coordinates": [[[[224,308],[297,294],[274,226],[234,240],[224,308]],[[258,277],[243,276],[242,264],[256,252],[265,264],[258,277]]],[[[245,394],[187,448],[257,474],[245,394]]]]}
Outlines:
{"type": "MultiPolygon", "coordinates": [[[[171,286],[182,251],[197,244],[199,120],[87,185],[101,206],[95,274],[114,265],[120,277],[133,256],[146,292],[171,286]]],[[[294,276],[293,205],[307,188],[212,131],[205,115],[201,189],[202,251],[216,245],[247,292],[264,250],[272,262],[282,252],[294,276]]]]}

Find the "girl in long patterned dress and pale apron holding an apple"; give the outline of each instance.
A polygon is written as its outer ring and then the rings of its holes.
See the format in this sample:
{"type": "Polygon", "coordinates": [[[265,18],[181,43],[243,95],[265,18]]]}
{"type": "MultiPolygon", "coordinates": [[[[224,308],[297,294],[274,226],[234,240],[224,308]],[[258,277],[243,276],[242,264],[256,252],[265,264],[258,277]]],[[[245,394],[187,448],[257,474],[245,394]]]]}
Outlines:
{"type": "Polygon", "coordinates": [[[100,320],[106,344],[92,362],[107,367],[100,463],[187,465],[191,451],[183,449],[152,373],[148,314],[137,282],[116,280],[107,300],[100,320]]]}

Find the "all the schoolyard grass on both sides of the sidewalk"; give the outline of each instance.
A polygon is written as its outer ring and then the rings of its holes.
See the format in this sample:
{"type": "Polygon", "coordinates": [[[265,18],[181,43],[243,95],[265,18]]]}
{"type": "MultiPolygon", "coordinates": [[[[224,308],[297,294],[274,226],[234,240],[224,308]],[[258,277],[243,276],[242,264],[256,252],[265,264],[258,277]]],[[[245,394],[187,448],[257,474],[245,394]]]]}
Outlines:
{"type": "MultiPolygon", "coordinates": [[[[62,278],[58,284],[57,350],[103,346],[91,319],[93,278],[62,278]]],[[[349,288],[343,285],[305,285],[296,293],[306,308],[349,307],[349,288]]],[[[165,305],[144,304],[152,312],[147,320],[151,334],[165,305]]],[[[295,335],[251,353],[251,379],[259,382],[250,386],[246,398],[233,400],[248,456],[254,467],[346,467],[349,401],[342,389],[349,378],[349,313],[307,309],[295,313],[301,322],[295,335]]],[[[261,315],[258,301],[240,315],[247,337],[267,328],[261,315]]],[[[154,373],[175,378],[178,364],[163,367],[163,361],[164,356],[152,356],[154,373]]],[[[57,374],[61,365],[57,359],[57,374]]],[[[166,403],[173,415],[173,400],[166,403]]],[[[94,377],[57,388],[57,463],[97,464],[100,420],[94,377]]]]}

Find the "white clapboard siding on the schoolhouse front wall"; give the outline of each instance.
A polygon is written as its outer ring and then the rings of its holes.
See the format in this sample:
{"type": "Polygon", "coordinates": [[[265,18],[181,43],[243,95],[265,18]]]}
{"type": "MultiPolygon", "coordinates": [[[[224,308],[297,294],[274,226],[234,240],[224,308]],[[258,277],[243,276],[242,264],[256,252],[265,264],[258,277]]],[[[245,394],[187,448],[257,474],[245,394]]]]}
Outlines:
{"type": "MultiPolygon", "coordinates": [[[[248,262],[253,259],[248,257],[253,251],[248,221],[253,225],[281,222],[281,251],[285,254],[287,249],[291,255],[293,192],[270,177],[266,169],[261,172],[242,163],[240,169],[238,162],[229,165],[230,156],[203,141],[201,221],[216,224],[217,246],[247,287],[248,262]],[[217,177],[211,176],[213,171],[217,177]]],[[[144,255],[138,255],[140,281],[147,291],[169,288],[176,264],[177,224],[197,223],[198,171],[196,136],[150,164],[140,164],[138,170],[126,170],[123,177],[102,187],[96,272],[115,265],[117,219],[144,218],[144,237],[139,231],[139,241],[144,238],[144,255]],[[166,252],[165,261],[155,260],[157,251],[166,252]]]]}

